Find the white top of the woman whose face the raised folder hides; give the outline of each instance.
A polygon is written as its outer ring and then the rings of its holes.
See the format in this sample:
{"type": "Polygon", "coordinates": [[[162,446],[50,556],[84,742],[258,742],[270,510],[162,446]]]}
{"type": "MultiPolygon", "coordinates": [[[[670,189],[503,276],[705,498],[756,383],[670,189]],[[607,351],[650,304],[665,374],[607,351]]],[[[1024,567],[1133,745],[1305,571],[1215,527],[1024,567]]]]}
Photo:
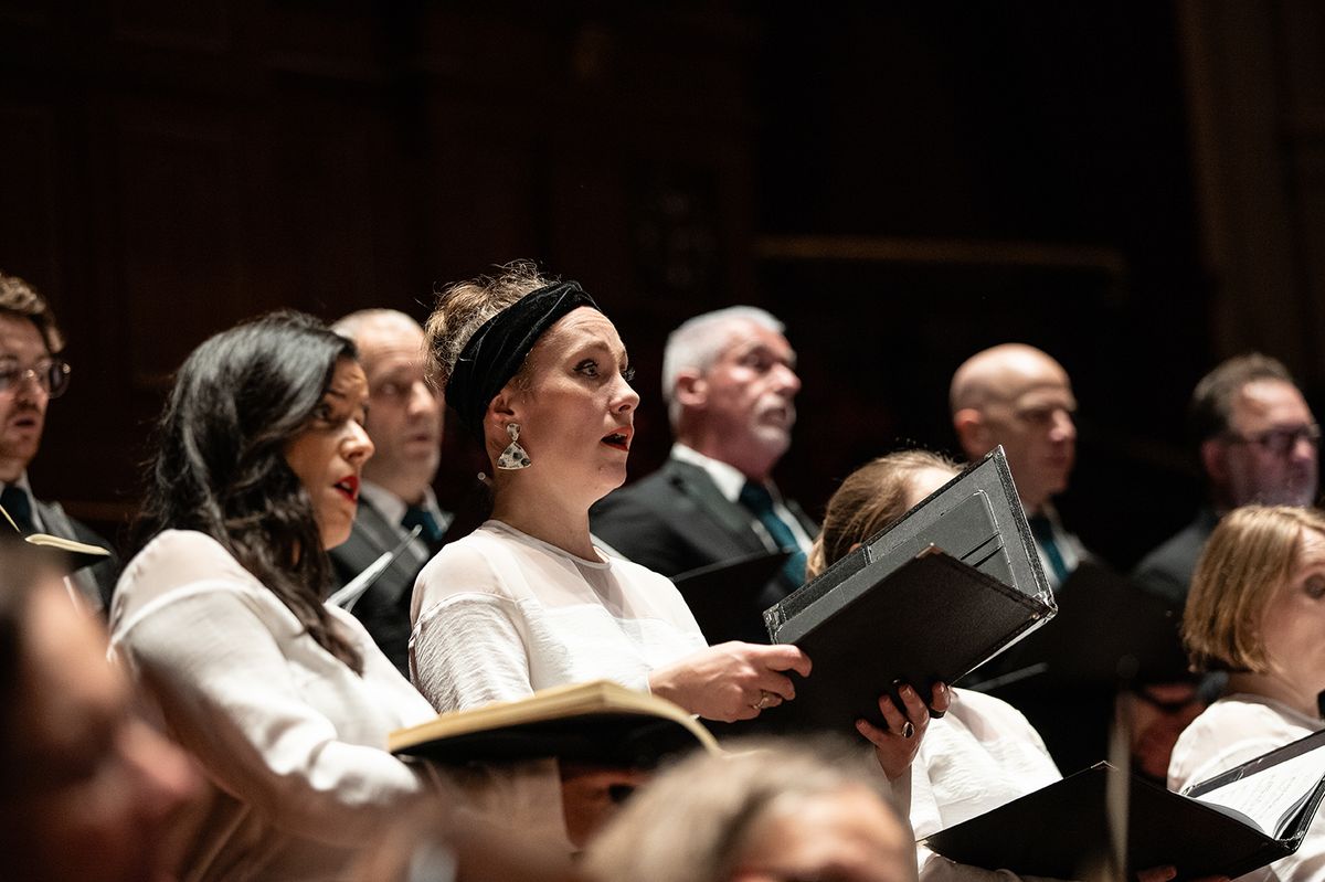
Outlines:
{"type": "MultiPolygon", "coordinates": [[[[954,689],[947,714],[930,720],[912,763],[910,821],[916,838],[983,814],[1060,777],[1040,734],[1020,711],[992,695],[954,689]]],[[[917,862],[922,882],[1036,878],[953,863],[924,846],[917,849],[917,862]]]]}

